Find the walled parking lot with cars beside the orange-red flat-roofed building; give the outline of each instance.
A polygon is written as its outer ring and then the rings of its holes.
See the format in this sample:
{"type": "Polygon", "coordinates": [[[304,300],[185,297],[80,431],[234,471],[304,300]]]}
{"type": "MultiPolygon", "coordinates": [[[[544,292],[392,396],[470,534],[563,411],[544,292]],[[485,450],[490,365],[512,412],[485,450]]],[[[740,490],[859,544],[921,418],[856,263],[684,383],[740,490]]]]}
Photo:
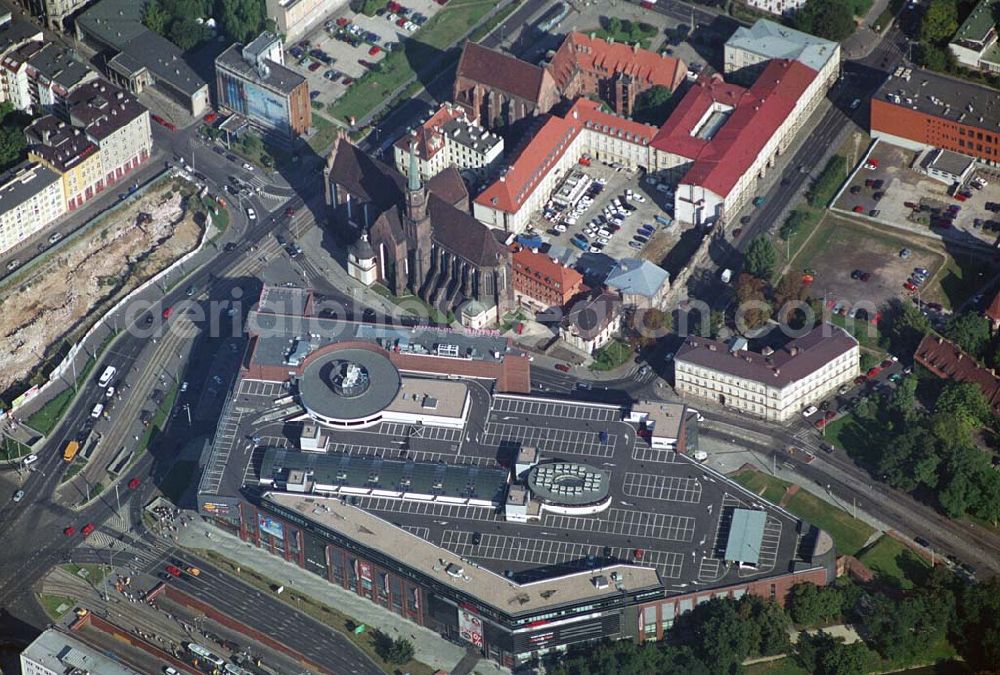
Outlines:
{"type": "Polygon", "coordinates": [[[946,239],[974,237],[994,244],[1000,237],[1000,179],[975,169],[960,186],[916,168],[917,154],[877,144],[857,167],[836,208],[892,223],[926,228],[946,239]]]}

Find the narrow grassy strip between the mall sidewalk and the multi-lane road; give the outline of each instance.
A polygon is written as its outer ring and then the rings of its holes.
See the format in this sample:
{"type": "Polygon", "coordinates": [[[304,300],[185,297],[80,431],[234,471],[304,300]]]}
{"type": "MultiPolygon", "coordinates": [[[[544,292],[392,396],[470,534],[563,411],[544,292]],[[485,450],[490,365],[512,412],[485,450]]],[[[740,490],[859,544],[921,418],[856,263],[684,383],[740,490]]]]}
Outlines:
{"type": "Polygon", "coordinates": [[[431,675],[435,672],[435,670],[426,663],[422,663],[416,659],[411,659],[403,664],[394,664],[383,660],[375,651],[375,626],[369,627],[370,630],[368,631],[357,634],[354,632],[354,629],[361,625],[360,622],[355,621],[346,614],[338,612],[332,607],[317,602],[313,598],[303,595],[302,593],[291,588],[287,588],[281,595],[274,595],[273,589],[281,585],[277,581],[260,574],[256,570],[248,568],[246,565],[237,564],[215,551],[209,551],[207,549],[194,549],[194,551],[198,555],[211,560],[213,564],[225,570],[227,573],[239,577],[244,582],[266,592],[272,597],[281,600],[286,605],[294,607],[299,611],[308,614],[320,623],[330,626],[350,640],[356,647],[358,647],[358,649],[363,651],[379,668],[385,672],[410,673],[410,675],[431,675]]]}

